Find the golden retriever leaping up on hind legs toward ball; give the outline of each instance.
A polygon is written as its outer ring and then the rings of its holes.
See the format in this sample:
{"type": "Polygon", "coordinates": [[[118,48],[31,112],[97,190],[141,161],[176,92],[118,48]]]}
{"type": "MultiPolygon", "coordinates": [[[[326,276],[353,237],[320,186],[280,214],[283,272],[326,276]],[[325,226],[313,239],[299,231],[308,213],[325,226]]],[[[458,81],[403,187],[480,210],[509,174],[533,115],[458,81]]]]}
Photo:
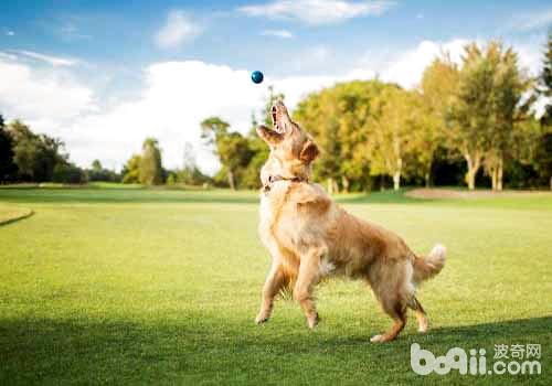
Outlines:
{"type": "Polygon", "coordinates": [[[371,342],[394,340],[414,310],[418,331],[426,332],[427,315],[415,297],[422,281],[445,265],[446,249],[437,244],[429,255],[415,255],[391,230],[362,221],[339,207],[323,189],[311,183],[311,164],[319,150],[312,139],[278,101],[272,107],[273,128],[258,126],[269,147],[261,170],[261,239],[272,256],[255,321],[270,318],[275,297],[286,290],[300,304],[310,329],[319,322],[312,297],[326,277],[362,279],[392,319],[392,326],[371,342]]]}

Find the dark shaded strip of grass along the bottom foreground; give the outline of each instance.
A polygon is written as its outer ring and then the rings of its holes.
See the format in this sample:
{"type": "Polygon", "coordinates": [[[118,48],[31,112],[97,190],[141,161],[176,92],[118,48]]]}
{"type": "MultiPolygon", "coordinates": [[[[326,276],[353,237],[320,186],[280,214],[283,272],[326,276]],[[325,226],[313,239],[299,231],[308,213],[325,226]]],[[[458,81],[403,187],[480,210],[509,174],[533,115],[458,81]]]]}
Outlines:
{"type": "Polygon", "coordinates": [[[552,318],[404,333],[389,344],[355,332],[255,326],[185,315],[180,323],[0,320],[0,384],[550,384],[552,318]],[[418,376],[410,345],[435,355],[459,346],[542,345],[541,375],[418,376]],[[545,363],[546,362],[546,363],[545,363]]]}

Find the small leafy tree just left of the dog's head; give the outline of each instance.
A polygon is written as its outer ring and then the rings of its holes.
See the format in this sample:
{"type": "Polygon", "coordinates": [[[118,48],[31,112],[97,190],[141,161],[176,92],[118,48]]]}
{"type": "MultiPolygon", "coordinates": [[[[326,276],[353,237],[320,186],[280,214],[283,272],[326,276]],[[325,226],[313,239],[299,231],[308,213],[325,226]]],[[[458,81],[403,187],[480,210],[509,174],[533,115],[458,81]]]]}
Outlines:
{"type": "Polygon", "coordinates": [[[253,152],[248,141],[240,132],[229,131],[230,125],[219,117],[211,117],[201,122],[201,137],[206,144],[215,147],[215,154],[219,157],[227,175],[229,185],[236,190],[236,175],[245,168],[253,152]]]}

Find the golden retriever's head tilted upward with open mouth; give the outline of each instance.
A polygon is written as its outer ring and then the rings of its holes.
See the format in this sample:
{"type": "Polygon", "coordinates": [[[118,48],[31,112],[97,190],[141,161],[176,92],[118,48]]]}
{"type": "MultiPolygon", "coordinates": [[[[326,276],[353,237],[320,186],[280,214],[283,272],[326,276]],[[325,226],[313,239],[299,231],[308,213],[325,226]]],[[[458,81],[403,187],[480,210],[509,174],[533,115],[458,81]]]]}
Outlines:
{"type": "Polygon", "coordinates": [[[261,125],[258,136],[270,148],[268,160],[261,171],[261,181],[268,183],[269,176],[308,180],[311,162],[318,156],[312,138],[289,118],[286,106],[277,101],[272,107],[273,127],[261,125]]]}

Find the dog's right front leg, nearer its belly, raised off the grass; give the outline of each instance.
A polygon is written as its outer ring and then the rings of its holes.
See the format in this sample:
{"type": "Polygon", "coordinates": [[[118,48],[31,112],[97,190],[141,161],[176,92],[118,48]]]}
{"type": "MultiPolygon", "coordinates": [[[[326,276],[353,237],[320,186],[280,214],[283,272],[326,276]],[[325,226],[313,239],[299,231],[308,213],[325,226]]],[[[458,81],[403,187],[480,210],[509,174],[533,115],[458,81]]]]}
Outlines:
{"type": "Polygon", "coordinates": [[[294,288],[294,298],[301,305],[310,329],[314,329],[320,320],[312,299],[312,289],[320,276],[320,257],[322,255],[323,251],[320,248],[315,248],[301,256],[299,275],[294,288]]]}

